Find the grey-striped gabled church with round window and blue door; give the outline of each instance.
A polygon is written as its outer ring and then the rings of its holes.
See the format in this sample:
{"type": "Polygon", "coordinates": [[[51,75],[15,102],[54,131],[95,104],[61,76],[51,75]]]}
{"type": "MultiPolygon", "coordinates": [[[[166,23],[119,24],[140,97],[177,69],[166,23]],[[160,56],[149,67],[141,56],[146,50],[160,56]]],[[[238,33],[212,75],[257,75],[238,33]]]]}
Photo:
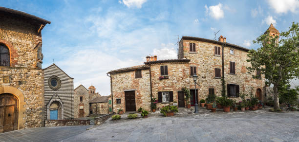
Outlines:
{"type": "Polygon", "coordinates": [[[43,69],[43,74],[44,119],[74,118],[74,78],[55,64],[43,69]]]}

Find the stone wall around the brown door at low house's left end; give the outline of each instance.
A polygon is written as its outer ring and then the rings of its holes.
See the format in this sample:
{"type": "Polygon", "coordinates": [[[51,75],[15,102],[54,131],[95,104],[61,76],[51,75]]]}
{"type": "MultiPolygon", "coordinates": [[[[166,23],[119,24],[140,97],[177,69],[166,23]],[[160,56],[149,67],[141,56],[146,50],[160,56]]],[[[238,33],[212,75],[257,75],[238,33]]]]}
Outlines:
{"type": "Polygon", "coordinates": [[[139,107],[150,111],[150,80],[149,70],[142,70],[142,78],[135,78],[135,71],[126,71],[110,74],[112,77],[113,110],[122,108],[126,111],[125,91],[135,91],[136,110],[139,107]],[[121,99],[121,104],[116,103],[121,99]]]}

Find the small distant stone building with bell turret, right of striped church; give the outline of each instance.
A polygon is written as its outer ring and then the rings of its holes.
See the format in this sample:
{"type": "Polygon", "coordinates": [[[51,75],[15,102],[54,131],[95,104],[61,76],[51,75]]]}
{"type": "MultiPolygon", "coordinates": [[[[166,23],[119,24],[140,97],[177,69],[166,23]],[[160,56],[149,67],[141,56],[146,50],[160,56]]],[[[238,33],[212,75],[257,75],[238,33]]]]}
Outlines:
{"type": "Polygon", "coordinates": [[[74,89],[74,113],[75,118],[87,117],[89,115],[89,101],[101,96],[96,93],[96,88],[90,86],[86,89],[83,85],[79,85],[74,89]]]}

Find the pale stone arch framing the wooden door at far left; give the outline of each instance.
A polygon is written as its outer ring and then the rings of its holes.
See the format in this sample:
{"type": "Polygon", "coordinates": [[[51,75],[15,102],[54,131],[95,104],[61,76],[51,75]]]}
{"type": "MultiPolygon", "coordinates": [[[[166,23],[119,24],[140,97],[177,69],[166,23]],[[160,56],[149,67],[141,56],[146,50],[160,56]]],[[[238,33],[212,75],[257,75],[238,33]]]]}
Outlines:
{"type": "Polygon", "coordinates": [[[26,121],[26,108],[24,107],[24,105],[26,105],[26,103],[24,102],[24,95],[23,93],[14,87],[10,87],[10,86],[1,86],[0,87],[0,94],[12,94],[14,97],[17,98],[18,102],[17,102],[17,106],[18,106],[18,126],[16,129],[20,130],[24,128],[24,123],[26,121]]]}

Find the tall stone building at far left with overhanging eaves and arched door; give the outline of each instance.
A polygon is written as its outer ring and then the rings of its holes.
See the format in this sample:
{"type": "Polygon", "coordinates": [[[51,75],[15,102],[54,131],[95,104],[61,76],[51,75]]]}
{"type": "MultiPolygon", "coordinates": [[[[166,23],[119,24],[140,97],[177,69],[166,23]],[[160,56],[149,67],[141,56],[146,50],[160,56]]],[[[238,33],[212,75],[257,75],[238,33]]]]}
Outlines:
{"type": "Polygon", "coordinates": [[[43,18],[0,7],[0,132],[43,126],[43,18]]]}

